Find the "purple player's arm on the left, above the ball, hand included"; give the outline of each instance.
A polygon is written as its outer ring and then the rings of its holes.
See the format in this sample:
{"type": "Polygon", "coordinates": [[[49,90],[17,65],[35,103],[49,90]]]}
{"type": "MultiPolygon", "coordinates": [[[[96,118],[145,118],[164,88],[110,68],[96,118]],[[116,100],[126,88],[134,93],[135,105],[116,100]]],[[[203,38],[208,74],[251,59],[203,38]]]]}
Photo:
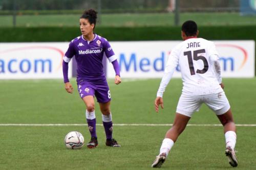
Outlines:
{"type": "Polygon", "coordinates": [[[69,78],[68,78],[69,62],[74,55],[75,55],[75,49],[73,46],[73,42],[70,42],[69,48],[68,48],[65,56],[63,57],[63,61],[62,61],[62,71],[63,71],[63,79],[64,79],[64,83],[65,83],[65,89],[69,93],[73,93],[73,91],[74,91],[74,88],[73,88],[72,84],[69,82],[69,78]]]}

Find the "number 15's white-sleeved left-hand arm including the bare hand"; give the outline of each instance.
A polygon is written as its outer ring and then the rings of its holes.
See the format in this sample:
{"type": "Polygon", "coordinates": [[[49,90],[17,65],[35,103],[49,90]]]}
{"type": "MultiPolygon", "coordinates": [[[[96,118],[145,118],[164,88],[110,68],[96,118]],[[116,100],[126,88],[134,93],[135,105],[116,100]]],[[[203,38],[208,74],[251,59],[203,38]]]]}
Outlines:
{"type": "Polygon", "coordinates": [[[164,69],[164,75],[157,91],[157,98],[155,100],[156,112],[159,111],[159,105],[163,109],[163,92],[166,86],[168,85],[170,79],[172,79],[174,71],[178,65],[178,62],[179,62],[179,55],[176,48],[174,48],[169,55],[166,67],[164,69]]]}

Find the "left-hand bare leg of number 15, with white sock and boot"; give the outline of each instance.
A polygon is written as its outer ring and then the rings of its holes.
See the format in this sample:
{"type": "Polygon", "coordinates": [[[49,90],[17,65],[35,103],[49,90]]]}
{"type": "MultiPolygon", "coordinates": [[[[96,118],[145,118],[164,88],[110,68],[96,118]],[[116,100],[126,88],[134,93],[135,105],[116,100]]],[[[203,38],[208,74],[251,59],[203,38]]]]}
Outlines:
{"type": "Polygon", "coordinates": [[[183,130],[186,128],[186,125],[188,123],[188,120],[190,119],[189,116],[183,115],[180,113],[176,113],[174,124],[172,128],[170,128],[166,134],[165,138],[163,139],[161,148],[160,148],[160,154],[156,157],[155,161],[152,164],[152,167],[161,167],[165,159],[167,158],[167,155],[172,149],[174,142],[177,140],[179,135],[183,132],[183,130]]]}

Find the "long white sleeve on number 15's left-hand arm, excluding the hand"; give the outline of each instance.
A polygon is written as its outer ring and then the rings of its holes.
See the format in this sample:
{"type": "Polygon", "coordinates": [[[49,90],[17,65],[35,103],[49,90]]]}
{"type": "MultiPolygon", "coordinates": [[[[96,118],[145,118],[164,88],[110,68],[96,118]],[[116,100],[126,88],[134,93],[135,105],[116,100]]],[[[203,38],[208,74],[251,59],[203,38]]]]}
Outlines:
{"type": "Polygon", "coordinates": [[[174,71],[178,65],[178,62],[179,62],[179,55],[177,51],[174,49],[170,53],[166,67],[164,69],[164,75],[157,91],[157,97],[161,97],[161,98],[163,97],[163,92],[166,86],[168,85],[170,79],[172,79],[174,71]]]}

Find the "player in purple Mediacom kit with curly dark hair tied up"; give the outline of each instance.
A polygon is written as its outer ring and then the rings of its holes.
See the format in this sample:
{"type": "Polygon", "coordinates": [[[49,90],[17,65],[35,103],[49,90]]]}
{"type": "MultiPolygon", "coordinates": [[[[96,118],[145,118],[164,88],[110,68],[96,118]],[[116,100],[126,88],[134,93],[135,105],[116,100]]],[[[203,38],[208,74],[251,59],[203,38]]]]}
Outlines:
{"type": "Polygon", "coordinates": [[[81,36],[73,39],[68,51],[63,57],[63,77],[67,92],[73,93],[73,87],[68,79],[68,63],[73,56],[77,62],[77,86],[78,92],[84,104],[86,104],[86,118],[91,133],[88,148],[98,145],[96,134],[96,117],[94,110],[94,95],[99,103],[102,113],[102,122],[106,134],[105,144],[109,147],[120,147],[112,137],[112,115],[110,110],[111,94],[103,72],[103,55],[113,64],[116,72],[115,84],[121,83],[120,69],[112,47],[108,40],[93,32],[97,19],[97,12],[93,9],[84,11],[79,19],[81,36]]]}

